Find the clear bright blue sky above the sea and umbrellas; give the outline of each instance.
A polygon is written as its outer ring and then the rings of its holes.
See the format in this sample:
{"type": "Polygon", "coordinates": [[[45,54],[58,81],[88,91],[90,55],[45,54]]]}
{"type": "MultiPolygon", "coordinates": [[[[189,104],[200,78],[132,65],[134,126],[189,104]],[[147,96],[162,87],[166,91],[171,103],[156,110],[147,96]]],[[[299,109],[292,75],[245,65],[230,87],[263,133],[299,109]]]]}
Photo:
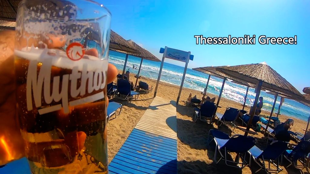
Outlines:
{"type": "MultiPolygon", "coordinates": [[[[299,91],[310,86],[310,1],[105,0],[111,28],[159,59],[160,47],[191,51],[189,68],[266,62],[299,91]],[[194,35],[256,35],[256,45],[196,45],[194,35]],[[258,37],[294,37],[297,45],[260,45],[258,37]]],[[[172,60],[166,62],[184,66],[172,60]]]]}

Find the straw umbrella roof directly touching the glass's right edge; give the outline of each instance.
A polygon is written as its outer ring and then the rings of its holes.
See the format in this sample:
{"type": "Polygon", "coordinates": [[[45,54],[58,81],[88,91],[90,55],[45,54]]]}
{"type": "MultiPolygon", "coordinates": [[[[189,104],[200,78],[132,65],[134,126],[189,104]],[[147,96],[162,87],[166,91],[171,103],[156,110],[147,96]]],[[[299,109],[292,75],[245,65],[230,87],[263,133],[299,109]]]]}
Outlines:
{"type": "Polygon", "coordinates": [[[140,52],[134,46],[132,46],[122,36],[118,35],[113,30],[111,30],[110,36],[110,50],[133,56],[140,56],[140,52]]]}

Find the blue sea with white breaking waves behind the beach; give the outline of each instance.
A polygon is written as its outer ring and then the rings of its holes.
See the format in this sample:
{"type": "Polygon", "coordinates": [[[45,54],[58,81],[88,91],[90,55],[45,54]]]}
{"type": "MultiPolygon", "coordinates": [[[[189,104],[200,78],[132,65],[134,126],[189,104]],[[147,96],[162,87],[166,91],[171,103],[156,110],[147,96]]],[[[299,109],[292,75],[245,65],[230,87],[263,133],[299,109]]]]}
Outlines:
{"type": "MultiPolygon", "coordinates": [[[[111,51],[109,53],[109,62],[114,64],[117,69],[123,69],[125,63],[126,54],[118,53],[111,51]]],[[[137,74],[139,70],[141,58],[135,56],[128,56],[126,70],[129,70],[130,73],[137,74]],[[133,65],[137,69],[133,69],[133,65]]],[[[143,60],[140,76],[144,76],[150,79],[157,80],[161,62],[154,62],[150,60],[143,60]]],[[[162,75],[160,81],[166,82],[173,85],[181,85],[183,77],[184,67],[164,63],[162,69],[162,75]]],[[[188,68],[186,71],[186,76],[184,80],[183,88],[195,89],[198,91],[204,91],[206,83],[208,80],[208,74],[194,71],[193,69],[188,68]]],[[[215,95],[219,95],[219,91],[222,87],[223,79],[211,76],[209,80],[209,86],[207,92],[215,95]]],[[[248,96],[246,99],[246,105],[252,106],[255,100],[254,88],[250,88],[248,96]]],[[[181,94],[182,95],[182,94],[181,94]]],[[[231,81],[226,81],[224,85],[224,90],[222,93],[222,98],[227,98],[235,102],[243,104],[244,96],[246,95],[246,86],[238,85],[231,81]]],[[[263,108],[262,110],[271,111],[272,104],[274,102],[274,95],[267,94],[266,91],[261,91],[260,96],[263,97],[263,108]]],[[[278,107],[280,104],[281,98],[278,97],[276,102],[276,107],[274,113],[277,113],[278,107]]],[[[241,106],[240,106],[241,107],[241,106]]],[[[302,103],[296,102],[294,100],[285,99],[284,103],[281,106],[280,113],[283,115],[290,116],[292,118],[298,118],[300,120],[308,121],[310,115],[310,107],[303,105],[302,103]]],[[[280,120],[285,121],[285,120],[280,120]]]]}

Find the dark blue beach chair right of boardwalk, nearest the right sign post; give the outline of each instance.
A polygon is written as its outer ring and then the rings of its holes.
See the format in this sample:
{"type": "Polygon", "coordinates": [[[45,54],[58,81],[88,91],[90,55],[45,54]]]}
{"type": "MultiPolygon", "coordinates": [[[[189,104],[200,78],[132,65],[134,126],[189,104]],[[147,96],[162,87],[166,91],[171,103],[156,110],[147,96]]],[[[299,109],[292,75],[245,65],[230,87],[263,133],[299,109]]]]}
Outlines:
{"type": "Polygon", "coordinates": [[[217,105],[215,103],[206,101],[201,105],[200,109],[194,108],[194,114],[193,114],[194,122],[197,122],[199,118],[199,120],[208,123],[208,119],[210,119],[209,123],[212,124],[212,118],[216,110],[216,107],[217,105]]]}

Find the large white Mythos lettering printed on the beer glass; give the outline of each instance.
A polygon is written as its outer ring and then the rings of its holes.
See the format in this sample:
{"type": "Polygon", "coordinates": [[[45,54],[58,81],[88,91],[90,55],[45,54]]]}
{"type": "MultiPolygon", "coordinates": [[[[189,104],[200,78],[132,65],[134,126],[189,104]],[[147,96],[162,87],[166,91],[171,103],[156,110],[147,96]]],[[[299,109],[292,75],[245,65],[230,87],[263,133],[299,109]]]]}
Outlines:
{"type": "MultiPolygon", "coordinates": [[[[74,105],[84,104],[88,102],[95,102],[104,98],[104,93],[102,91],[102,89],[104,89],[106,85],[106,72],[104,71],[104,69],[97,69],[95,72],[87,72],[86,63],[83,64],[82,72],[78,71],[78,67],[73,67],[71,74],[64,74],[62,75],[62,77],[54,76],[51,90],[52,59],[45,59],[40,64],[42,66],[40,67],[40,71],[38,73],[38,62],[36,60],[31,60],[29,62],[26,83],[28,111],[31,111],[33,109],[32,98],[34,100],[35,107],[42,107],[42,89],[44,102],[47,105],[50,105],[53,101],[59,102],[61,100],[61,105],[64,109],[64,113],[69,113],[69,105],[71,103],[74,103],[74,105]],[[60,82],[61,79],[62,81],[60,82]],[[81,84],[78,87],[79,79],[81,79],[81,84]],[[69,80],[71,81],[70,86],[69,80]],[[86,85],[88,94],[93,93],[94,90],[98,91],[98,93],[83,98],[83,96],[86,94],[86,85]],[[69,104],[69,93],[72,98],[76,98],[78,96],[81,96],[81,98],[77,99],[76,102],[70,101],[69,104]]],[[[38,111],[40,114],[45,114],[60,109],[61,107],[59,105],[55,105],[39,109],[38,111]]]]}

